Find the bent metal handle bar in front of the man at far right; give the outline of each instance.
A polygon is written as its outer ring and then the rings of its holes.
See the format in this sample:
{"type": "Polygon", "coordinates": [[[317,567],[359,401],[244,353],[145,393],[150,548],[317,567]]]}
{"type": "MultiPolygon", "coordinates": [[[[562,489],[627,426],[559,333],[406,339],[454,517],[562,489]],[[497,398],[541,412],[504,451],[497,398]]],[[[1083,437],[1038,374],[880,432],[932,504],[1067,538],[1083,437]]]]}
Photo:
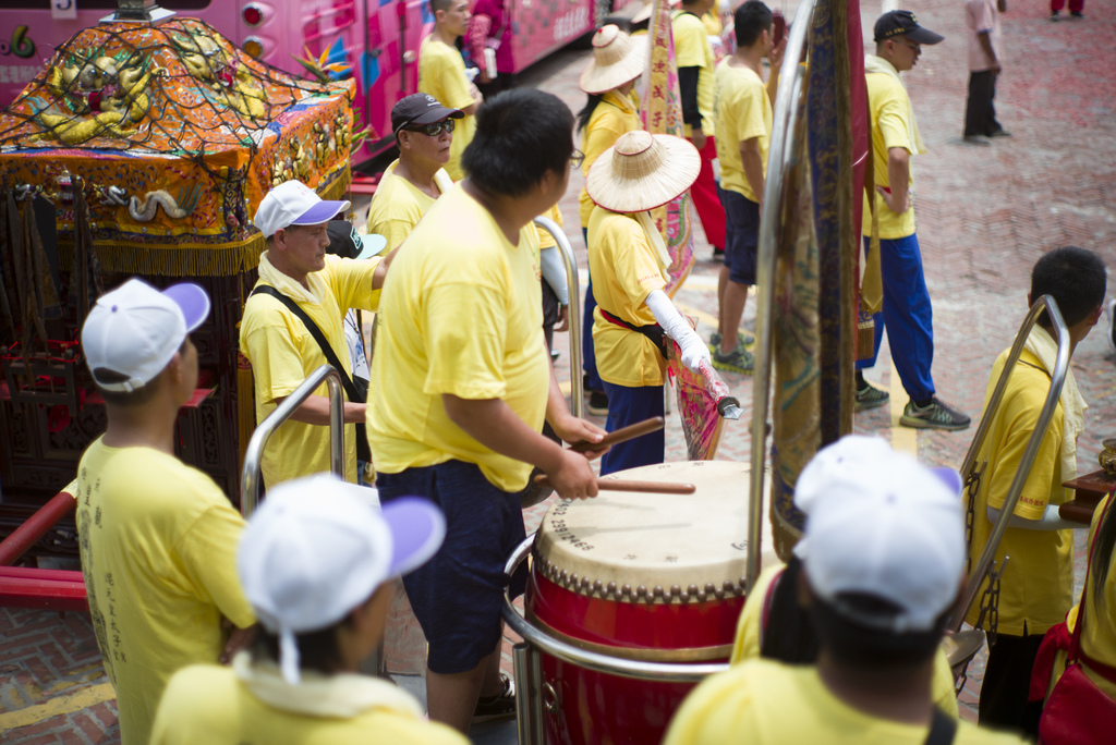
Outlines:
{"type": "MultiPolygon", "coordinates": [[[[1035,430],[1027,441],[1027,449],[1023,451],[1020,467],[1016,471],[1016,475],[1011,480],[1011,486],[1008,488],[1008,494],[1003,500],[1000,519],[995,521],[995,525],[992,528],[992,533],[988,536],[988,542],[984,544],[984,550],[981,552],[977,565],[969,573],[969,582],[965,584],[965,590],[954,609],[953,618],[950,620],[950,628],[954,631],[961,629],[969,608],[972,607],[973,601],[977,599],[981,582],[984,581],[984,574],[988,573],[988,568],[992,563],[992,555],[1000,546],[1004,531],[1008,530],[1008,521],[1011,520],[1011,515],[1016,512],[1016,504],[1019,502],[1019,495],[1023,491],[1023,483],[1031,472],[1031,465],[1035,463],[1035,456],[1039,452],[1039,445],[1046,435],[1047,427],[1050,425],[1054,412],[1058,407],[1061,387],[1066,383],[1066,373],[1069,370],[1069,329],[1061,317],[1057,301],[1050,296],[1045,294],[1035,301],[1031,309],[1027,311],[1023,325],[1019,327],[1019,332],[1016,335],[1016,342],[1011,346],[1011,351],[1003,364],[1003,369],[1000,370],[1000,379],[995,381],[995,390],[992,391],[992,397],[988,401],[984,414],[981,415],[980,427],[977,428],[977,435],[973,437],[972,444],[969,445],[969,452],[965,454],[965,461],[961,466],[962,480],[964,482],[969,481],[969,476],[977,463],[977,454],[984,444],[984,437],[992,425],[992,415],[1000,406],[1000,399],[1003,398],[1003,389],[1007,388],[1008,379],[1011,377],[1012,371],[1014,371],[1019,354],[1022,351],[1023,344],[1026,344],[1027,337],[1038,321],[1043,308],[1050,316],[1055,336],[1058,339],[1058,359],[1055,361],[1054,371],[1050,374],[1050,388],[1047,390],[1046,401],[1043,401],[1042,409],[1039,412],[1035,430]]],[[[985,474],[983,477],[988,478],[988,475],[985,474]]],[[[980,520],[980,515],[974,515],[973,520],[980,520]]]]}

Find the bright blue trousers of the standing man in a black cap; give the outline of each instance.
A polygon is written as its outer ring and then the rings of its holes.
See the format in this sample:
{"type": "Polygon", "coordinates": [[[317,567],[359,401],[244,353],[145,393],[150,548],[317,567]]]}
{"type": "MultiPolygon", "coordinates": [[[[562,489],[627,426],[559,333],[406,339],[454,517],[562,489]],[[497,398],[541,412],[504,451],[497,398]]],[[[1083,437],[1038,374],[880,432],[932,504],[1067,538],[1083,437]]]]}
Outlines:
{"type": "MultiPolygon", "coordinates": [[[[864,245],[867,251],[867,238],[864,245]]],[[[924,401],[934,395],[934,378],[930,371],[934,361],[934,313],[922,272],[917,235],[881,240],[879,269],[884,279],[884,307],[875,316],[872,359],[859,360],[856,369],[875,366],[886,328],[903,388],[912,400],[924,401]]]]}

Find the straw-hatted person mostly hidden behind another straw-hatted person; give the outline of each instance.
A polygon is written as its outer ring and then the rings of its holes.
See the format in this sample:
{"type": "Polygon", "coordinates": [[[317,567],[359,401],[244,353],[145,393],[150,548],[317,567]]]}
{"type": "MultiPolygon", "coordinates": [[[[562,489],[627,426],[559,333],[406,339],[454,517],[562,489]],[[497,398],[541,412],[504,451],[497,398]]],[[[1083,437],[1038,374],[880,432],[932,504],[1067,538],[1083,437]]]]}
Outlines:
{"type": "MultiPolygon", "coordinates": [[[[650,18],[650,11],[648,11],[650,18]]],[[[577,128],[581,133],[581,174],[589,175],[589,168],[597,157],[616,144],[625,132],[639,129],[639,112],[633,99],[635,81],[643,75],[647,64],[646,37],[632,39],[612,23],[600,27],[593,35],[593,59],[589,60],[578,85],[588,96],[585,107],[577,115],[577,128]]],[[[581,236],[588,248],[589,215],[593,200],[584,187],[578,196],[578,217],[581,221],[581,236]]],[[[593,294],[593,277],[585,291],[585,312],[581,316],[581,355],[585,368],[585,389],[588,394],[589,414],[606,416],[608,396],[597,373],[597,358],[593,348],[593,310],[597,307],[593,294]]]]}

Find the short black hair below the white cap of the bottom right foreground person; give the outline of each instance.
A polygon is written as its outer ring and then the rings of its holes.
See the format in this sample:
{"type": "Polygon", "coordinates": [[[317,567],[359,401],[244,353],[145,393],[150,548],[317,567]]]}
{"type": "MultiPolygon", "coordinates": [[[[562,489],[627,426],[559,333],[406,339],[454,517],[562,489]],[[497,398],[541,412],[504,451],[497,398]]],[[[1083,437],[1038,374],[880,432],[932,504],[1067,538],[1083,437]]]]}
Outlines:
{"type": "MultiPolygon", "coordinates": [[[[893,632],[852,620],[811,591],[810,620],[821,649],[844,668],[868,673],[912,669],[926,664],[937,652],[949,611],[927,631],[893,632]]],[[[885,619],[901,609],[878,596],[846,592],[839,601],[857,616],[885,619]]]]}

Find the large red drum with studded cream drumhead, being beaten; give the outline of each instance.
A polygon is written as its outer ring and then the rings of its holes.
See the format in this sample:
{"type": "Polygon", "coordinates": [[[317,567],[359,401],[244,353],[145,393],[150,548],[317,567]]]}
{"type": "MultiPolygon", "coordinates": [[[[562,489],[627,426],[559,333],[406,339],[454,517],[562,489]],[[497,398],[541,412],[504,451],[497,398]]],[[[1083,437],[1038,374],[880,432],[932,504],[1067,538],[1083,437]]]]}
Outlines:
{"type": "MultiPolygon", "coordinates": [[[[528,621],[613,657],[727,660],[744,604],[749,467],[666,463],[607,478],[698,492],[600,492],[550,507],[532,551],[528,621]]],[[[763,561],[778,559],[769,549],[763,561]]],[[[657,743],[694,685],[594,673],[547,655],[542,678],[547,742],[570,745],[657,743]]]]}

